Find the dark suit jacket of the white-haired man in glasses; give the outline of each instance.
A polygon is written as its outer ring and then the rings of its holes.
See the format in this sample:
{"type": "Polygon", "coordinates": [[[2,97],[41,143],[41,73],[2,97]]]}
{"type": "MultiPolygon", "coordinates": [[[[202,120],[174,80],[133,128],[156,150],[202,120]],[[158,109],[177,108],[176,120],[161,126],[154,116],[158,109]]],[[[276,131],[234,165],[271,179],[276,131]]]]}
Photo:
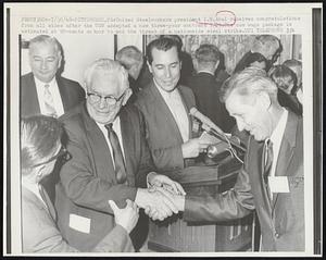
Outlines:
{"type": "Polygon", "coordinates": [[[129,106],[122,109],[120,119],[128,185],[117,184],[104,135],[85,103],[61,117],[72,159],[62,166],[57,185],[58,223],[63,237],[82,251],[89,251],[113,228],[108,200],[114,200],[120,208],[125,207],[126,199],[135,200],[135,185],[146,186],[146,175],[152,170],[141,113],[129,106]],[[71,228],[70,214],[90,219],[90,233],[71,228]]]}

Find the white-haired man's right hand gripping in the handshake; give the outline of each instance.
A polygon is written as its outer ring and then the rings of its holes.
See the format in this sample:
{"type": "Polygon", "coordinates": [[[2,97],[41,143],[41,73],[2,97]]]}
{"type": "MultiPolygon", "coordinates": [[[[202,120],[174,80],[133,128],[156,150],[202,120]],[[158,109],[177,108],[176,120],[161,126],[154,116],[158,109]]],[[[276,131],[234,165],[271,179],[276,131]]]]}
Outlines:
{"type": "Polygon", "coordinates": [[[176,206],[173,203],[170,194],[164,194],[154,188],[138,188],[135,202],[140,208],[151,209],[152,212],[156,212],[155,218],[161,221],[172,215],[173,213],[178,212],[176,206]]]}

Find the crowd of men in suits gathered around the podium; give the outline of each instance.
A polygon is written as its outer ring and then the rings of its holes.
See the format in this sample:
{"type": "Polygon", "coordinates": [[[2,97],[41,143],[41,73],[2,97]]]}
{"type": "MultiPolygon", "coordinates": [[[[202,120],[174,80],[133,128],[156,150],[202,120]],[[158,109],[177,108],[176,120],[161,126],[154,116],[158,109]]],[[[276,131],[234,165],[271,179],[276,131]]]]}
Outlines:
{"type": "Polygon", "coordinates": [[[124,47],[115,60],[93,61],[82,87],[60,75],[54,37],[29,41],[32,72],[21,79],[23,251],[138,251],[137,222],[148,218],[184,212],[185,221],[217,222],[254,210],[261,250],[304,250],[301,62],[276,65],[281,42],[261,35],[222,77],[216,46],[201,45],[193,60],[181,47],[172,35],[149,42],[146,57],[124,47]],[[247,133],[237,182],[216,196],[186,195],[160,174],[196,164],[212,145],[193,107],[224,132],[247,133]]]}

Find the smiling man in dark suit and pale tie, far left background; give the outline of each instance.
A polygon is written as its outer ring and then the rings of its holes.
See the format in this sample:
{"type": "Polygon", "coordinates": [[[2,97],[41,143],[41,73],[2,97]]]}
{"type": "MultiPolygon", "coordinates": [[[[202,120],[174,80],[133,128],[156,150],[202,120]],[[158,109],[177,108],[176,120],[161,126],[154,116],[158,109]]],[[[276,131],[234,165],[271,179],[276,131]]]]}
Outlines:
{"type": "Polygon", "coordinates": [[[21,116],[45,114],[59,117],[85,99],[80,85],[59,75],[60,42],[48,35],[29,41],[32,72],[21,78],[21,116]]]}

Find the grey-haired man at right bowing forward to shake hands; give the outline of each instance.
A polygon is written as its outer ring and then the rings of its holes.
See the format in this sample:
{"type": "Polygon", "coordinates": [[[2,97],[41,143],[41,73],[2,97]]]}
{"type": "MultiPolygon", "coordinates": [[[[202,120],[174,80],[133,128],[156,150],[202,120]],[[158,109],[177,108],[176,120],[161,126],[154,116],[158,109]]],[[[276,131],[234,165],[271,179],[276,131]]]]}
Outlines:
{"type": "Polygon", "coordinates": [[[215,197],[175,196],[175,203],[186,221],[225,221],[255,209],[261,250],[303,251],[302,117],[279,106],[275,83],[253,67],[231,76],[222,98],[239,129],[251,134],[243,168],[233,189],[215,197]]]}

